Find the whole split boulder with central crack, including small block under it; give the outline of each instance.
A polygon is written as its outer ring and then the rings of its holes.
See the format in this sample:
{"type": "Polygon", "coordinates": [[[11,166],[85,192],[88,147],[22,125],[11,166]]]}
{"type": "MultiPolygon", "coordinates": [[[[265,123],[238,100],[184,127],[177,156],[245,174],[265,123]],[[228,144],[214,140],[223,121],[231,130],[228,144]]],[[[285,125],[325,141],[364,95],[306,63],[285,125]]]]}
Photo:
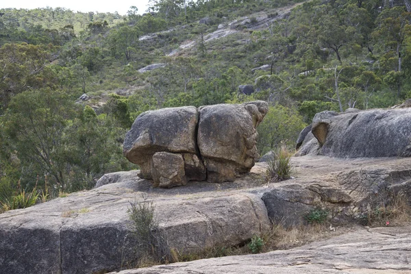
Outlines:
{"type": "Polygon", "coordinates": [[[124,154],[155,186],[234,181],[258,159],[256,127],[267,111],[268,103],[253,101],[144,112],[125,136],[124,154]]]}

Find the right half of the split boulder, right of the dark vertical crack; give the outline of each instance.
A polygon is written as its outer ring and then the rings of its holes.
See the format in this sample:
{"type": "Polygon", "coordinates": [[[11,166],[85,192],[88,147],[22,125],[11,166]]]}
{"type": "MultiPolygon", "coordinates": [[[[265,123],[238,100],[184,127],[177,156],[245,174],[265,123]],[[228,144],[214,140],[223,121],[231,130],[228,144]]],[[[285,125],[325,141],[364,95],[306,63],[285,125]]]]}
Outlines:
{"type": "Polygon", "coordinates": [[[200,108],[197,140],[208,182],[233,181],[251,169],[258,159],[256,126],[266,110],[263,101],[200,108]]]}

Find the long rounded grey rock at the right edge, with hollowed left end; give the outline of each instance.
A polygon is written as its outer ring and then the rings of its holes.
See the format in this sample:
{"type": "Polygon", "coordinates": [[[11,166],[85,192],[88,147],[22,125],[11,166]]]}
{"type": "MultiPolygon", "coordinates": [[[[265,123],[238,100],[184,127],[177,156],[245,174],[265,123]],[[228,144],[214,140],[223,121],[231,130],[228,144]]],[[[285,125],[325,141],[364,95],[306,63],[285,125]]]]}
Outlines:
{"type": "Polygon", "coordinates": [[[410,157],[410,121],[410,108],[321,112],[314,116],[312,134],[306,135],[297,155],[410,157]]]}

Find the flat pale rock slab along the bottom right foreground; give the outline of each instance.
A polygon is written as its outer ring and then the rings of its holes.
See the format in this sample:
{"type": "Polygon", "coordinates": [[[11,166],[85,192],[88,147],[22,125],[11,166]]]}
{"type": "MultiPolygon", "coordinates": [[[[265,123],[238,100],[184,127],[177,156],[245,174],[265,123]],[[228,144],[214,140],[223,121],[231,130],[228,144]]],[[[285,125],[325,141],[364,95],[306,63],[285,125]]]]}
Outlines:
{"type": "Polygon", "coordinates": [[[411,273],[410,228],[358,229],[349,234],[334,236],[290,250],[152,266],[147,269],[125,270],[118,274],[199,272],[407,274],[411,273]]]}

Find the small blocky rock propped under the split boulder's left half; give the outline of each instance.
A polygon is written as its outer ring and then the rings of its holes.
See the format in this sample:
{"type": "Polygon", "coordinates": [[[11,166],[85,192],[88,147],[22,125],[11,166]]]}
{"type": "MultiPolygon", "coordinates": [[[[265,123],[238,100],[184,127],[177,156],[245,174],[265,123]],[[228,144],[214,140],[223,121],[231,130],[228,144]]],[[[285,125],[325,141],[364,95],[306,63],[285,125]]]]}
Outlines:
{"type": "Polygon", "coordinates": [[[151,164],[154,186],[171,188],[187,184],[184,171],[184,159],[181,154],[156,152],[151,164]]]}

